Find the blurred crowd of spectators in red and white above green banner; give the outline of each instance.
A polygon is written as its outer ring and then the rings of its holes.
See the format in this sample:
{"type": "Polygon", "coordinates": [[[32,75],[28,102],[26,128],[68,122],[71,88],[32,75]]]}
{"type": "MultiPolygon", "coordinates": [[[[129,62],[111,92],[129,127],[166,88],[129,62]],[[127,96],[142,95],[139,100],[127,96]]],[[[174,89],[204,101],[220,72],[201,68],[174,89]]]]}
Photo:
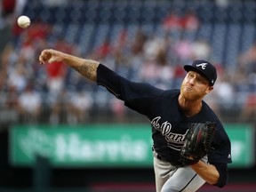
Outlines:
{"type": "MultiPolygon", "coordinates": [[[[193,10],[182,14],[171,10],[157,25],[164,34],[148,34],[137,28],[135,36],[128,36],[123,28],[115,41],[107,36],[85,53],[64,36],[52,40],[51,24],[36,20],[29,28],[21,29],[15,21],[17,13],[11,15],[12,21],[5,24],[11,35],[5,32],[6,36],[1,37],[1,42],[9,38],[1,50],[1,123],[81,124],[92,122],[95,116],[96,121],[125,122],[129,116],[139,116],[129,115],[132,112],[124,108],[122,101],[63,63],[40,66],[38,56],[44,48],[99,60],[132,81],[148,82],[162,89],[180,87],[186,75],[183,65],[196,59],[211,60],[219,76],[212,95],[205,100],[224,120],[255,119],[256,43],[237,54],[236,68],[230,70],[225,63],[212,60],[209,39],[182,36],[195,34],[200,28],[201,20],[193,10]]],[[[9,16],[2,14],[2,20],[9,16]]]]}

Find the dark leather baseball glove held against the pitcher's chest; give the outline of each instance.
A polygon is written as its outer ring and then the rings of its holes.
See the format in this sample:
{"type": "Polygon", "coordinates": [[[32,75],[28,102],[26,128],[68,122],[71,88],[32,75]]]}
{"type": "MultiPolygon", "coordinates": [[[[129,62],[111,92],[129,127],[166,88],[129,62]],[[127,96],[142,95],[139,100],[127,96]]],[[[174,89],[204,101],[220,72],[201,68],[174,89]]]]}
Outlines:
{"type": "Polygon", "coordinates": [[[196,164],[211,148],[216,123],[206,122],[189,124],[185,142],[180,149],[182,165],[196,164]]]}

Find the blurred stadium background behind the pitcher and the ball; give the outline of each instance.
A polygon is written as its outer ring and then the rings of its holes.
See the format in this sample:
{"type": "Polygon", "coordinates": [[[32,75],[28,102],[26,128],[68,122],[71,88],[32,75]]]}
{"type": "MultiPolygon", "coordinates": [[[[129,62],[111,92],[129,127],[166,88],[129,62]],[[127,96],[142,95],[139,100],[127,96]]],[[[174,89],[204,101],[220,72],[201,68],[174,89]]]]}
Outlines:
{"type": "Polygon", "coordinates": [[[256,1],[2,0],[0,8],[1,192],[155,191],[148,119],[63,63],[40,66],[44,48],[163,89],[180,87],[183,65],[211,60],[218,80],[205,101],[232,142],[221,191],[256,191],[256,1]],[[22,14],[29,28],[17,26],[22,14]]]}

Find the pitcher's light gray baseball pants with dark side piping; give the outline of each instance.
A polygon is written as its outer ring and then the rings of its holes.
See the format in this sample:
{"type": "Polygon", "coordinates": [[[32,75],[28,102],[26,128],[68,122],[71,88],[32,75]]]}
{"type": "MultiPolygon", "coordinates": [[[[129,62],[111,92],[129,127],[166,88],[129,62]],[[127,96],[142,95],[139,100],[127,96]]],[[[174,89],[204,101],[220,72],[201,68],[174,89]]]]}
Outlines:
{"type": "MultiPolygon", "coordinates": [[[[153,153],[156,153],[153,151],[153,153]]],[[[207,156],[202,159],[207,162],[207,156]]],[[[205,183],[190,167],[175,167],[154,156],[154,170],[156,177],[156,192],[194,192],[205,183]]]]}

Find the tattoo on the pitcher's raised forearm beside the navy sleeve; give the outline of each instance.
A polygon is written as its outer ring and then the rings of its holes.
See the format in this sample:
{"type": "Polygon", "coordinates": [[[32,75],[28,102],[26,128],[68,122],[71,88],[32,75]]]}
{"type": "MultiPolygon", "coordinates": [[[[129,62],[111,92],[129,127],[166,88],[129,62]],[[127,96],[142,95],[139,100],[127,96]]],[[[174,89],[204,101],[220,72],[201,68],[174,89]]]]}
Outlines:
{"type": "Polygon", "coordinates": [[[78,73],[82,76],[85,76],[92,82],[97,81],[97,68],[99,66],[98,62],[92,60],[85,60],[84,63],[80,66],[73,66],[78,73]]]}

